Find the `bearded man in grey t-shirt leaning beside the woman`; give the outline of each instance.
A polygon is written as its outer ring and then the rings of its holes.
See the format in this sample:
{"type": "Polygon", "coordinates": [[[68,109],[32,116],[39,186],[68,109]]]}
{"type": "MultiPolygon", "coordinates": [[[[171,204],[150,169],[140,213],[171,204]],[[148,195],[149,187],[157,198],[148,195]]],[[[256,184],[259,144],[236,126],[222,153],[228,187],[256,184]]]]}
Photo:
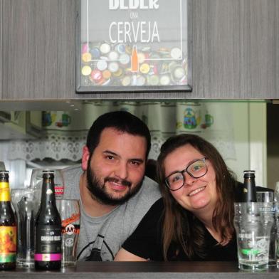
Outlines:
{"type": "Polygon", "coordinates": [[[80,166],[64,170],[64,199],[80,200],[78,260],[113,260],[161,196],[144,177],[147,126],[129,112],[108,112],[90,127],[80,166]]]}

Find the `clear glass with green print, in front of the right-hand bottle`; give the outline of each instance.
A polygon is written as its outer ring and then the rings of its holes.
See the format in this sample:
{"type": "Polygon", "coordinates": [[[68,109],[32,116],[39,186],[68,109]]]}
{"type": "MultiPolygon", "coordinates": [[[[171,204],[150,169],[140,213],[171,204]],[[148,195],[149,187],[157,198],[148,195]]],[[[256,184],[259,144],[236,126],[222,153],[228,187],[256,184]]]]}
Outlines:
{"type": "Polygon", "coordinates": [[[272,203],[235,203],[234,226],[238,245],[238,267],[243,270],[266,270],[270,231],[274,223],[272,203]]]}

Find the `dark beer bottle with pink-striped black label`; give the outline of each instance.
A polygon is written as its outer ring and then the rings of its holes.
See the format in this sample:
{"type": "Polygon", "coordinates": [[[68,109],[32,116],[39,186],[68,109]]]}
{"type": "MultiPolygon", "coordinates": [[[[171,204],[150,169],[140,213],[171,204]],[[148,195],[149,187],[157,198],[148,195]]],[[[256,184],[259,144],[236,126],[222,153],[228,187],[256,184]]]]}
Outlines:
{"type": "Polygon", "coordinates": [[[41,205],[35,223],[35,268],[41,270],[61,266],[61,220],[56,208],[53,173],[43,171],[41,205]]]}

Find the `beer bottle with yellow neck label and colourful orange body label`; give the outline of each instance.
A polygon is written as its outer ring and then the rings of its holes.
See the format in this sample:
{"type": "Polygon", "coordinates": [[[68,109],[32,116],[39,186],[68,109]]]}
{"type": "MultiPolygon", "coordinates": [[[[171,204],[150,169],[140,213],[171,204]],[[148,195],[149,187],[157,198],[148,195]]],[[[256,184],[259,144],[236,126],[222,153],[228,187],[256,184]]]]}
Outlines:
{"type": "Polygon", "coordinates": [[[9,171],[0,171],[0,270],[16,268],[16,215],[11,208],[9,171]]]}

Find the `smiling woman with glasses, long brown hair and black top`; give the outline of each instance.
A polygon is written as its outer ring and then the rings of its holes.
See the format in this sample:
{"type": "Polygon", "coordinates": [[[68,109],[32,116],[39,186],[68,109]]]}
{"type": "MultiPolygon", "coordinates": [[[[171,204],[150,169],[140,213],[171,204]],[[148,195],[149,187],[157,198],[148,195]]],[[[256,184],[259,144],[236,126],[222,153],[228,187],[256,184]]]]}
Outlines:
{"type": "Polygon", "coordinates": [[[162,199],[115,260],[237,260],[237,181],[217,149],[196,135],[170,137],[161,147],[157,173],[162,199]]]}

